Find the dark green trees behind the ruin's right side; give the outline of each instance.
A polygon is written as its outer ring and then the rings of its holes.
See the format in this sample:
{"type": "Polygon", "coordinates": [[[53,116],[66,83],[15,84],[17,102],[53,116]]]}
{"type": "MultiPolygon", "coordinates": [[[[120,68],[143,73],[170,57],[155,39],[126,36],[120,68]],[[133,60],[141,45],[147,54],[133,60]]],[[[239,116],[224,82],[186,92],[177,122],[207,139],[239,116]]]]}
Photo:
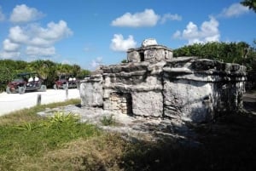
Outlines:
{"type": "MultiPolygon", "coordinates": [[[[256,42],[254,42],[256,45],[256,42]]],[[[195,43],[173,50],[173,56],[197,56],[199,58],[237,63],[255,71],[256,48],[245,43],[195,43]]]]}

